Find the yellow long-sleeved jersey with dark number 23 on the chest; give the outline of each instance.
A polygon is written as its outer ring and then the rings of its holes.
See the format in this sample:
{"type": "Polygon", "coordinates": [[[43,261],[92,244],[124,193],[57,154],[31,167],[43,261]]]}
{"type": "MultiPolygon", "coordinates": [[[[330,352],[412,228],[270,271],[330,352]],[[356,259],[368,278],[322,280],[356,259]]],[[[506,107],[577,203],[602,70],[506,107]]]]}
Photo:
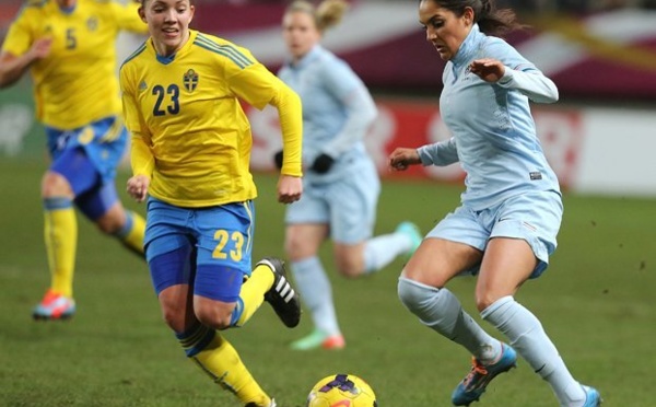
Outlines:
{"type": "Polygon", "coordinates": [[[120,86],[132,171],[151,178],[155,198],[207,207],[256,197],[253,138],[241,100],[279,108],[282,173],[302,175],[301,100],[245,48],[190,31],[183,48],[163,58],[149,39],[120,68],[120,86]]]}

